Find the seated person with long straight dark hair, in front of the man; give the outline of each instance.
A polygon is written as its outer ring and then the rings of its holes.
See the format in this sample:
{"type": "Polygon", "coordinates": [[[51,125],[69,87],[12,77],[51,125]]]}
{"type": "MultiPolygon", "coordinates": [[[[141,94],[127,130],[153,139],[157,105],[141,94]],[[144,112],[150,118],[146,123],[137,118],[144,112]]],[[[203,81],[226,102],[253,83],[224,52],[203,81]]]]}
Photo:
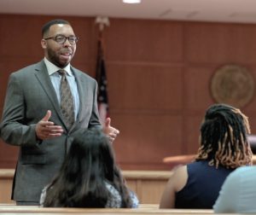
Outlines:
{"type": "Polygon", "coordinates": [[[74,137],[61,170],[43,189],[45,207],[137,207],[137,196],[126,187],[102,131],[74,137]]]}

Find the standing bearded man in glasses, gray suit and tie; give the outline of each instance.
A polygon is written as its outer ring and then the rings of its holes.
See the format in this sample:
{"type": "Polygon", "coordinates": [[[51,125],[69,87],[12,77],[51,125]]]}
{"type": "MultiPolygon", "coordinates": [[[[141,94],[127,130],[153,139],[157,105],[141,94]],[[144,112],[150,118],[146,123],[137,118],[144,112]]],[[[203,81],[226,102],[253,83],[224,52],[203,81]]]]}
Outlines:
{"type": "MultiPolygon", "coordinates": [[[[73,137],[100,128],[96,80],[70,65],[78,38],[66,20],[51,20],[42,28],[44,60],[12,73],[3,108],[1,137],[19,146],[12,199],[17,205],[38,205],[42,189],[59,170],[73,137]],[[61,113],[61,74],[73,97],[74,123],[61,113]]],[[[119,131],[108,119],[103,128],[113,142],[119,131]]]]}

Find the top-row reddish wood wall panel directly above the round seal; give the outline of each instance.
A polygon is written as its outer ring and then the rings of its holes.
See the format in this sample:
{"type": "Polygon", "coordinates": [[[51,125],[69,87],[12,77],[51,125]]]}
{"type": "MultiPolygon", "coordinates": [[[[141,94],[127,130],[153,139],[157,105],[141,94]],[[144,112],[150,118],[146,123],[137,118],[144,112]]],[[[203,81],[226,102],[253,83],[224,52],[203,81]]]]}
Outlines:
{"type": "Polygon", "coordinates": [[[255,25],[189,23],[185,29],[184,52],[189,62],[255,63],[255,25]]]}

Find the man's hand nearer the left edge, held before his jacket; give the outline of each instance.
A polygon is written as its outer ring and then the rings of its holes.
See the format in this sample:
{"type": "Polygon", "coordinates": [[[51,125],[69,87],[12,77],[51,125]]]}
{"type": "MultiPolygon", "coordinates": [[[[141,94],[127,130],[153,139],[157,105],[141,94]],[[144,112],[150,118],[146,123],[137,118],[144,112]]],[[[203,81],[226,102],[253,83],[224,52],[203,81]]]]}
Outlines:
{"type": "Polygon", "coordinates": [[[48,110],[44,118],[36,125],[36,134],[41,140],[60,137],[63,133],[63,129],[60,125],[55,125],[53,122],[49,121],[50,116],[51,111],[48,110]]]}

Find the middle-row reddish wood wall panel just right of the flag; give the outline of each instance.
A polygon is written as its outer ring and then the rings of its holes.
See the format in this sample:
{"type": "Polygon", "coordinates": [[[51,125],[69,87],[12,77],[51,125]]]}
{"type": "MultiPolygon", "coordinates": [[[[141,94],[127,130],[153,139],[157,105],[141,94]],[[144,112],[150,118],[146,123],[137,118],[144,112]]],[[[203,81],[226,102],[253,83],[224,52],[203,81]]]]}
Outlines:
{"type": "Polygon", "coordinates": [[[180,67],[108,64],[110,111],[172,112],[182,108],[180,67]]]}

